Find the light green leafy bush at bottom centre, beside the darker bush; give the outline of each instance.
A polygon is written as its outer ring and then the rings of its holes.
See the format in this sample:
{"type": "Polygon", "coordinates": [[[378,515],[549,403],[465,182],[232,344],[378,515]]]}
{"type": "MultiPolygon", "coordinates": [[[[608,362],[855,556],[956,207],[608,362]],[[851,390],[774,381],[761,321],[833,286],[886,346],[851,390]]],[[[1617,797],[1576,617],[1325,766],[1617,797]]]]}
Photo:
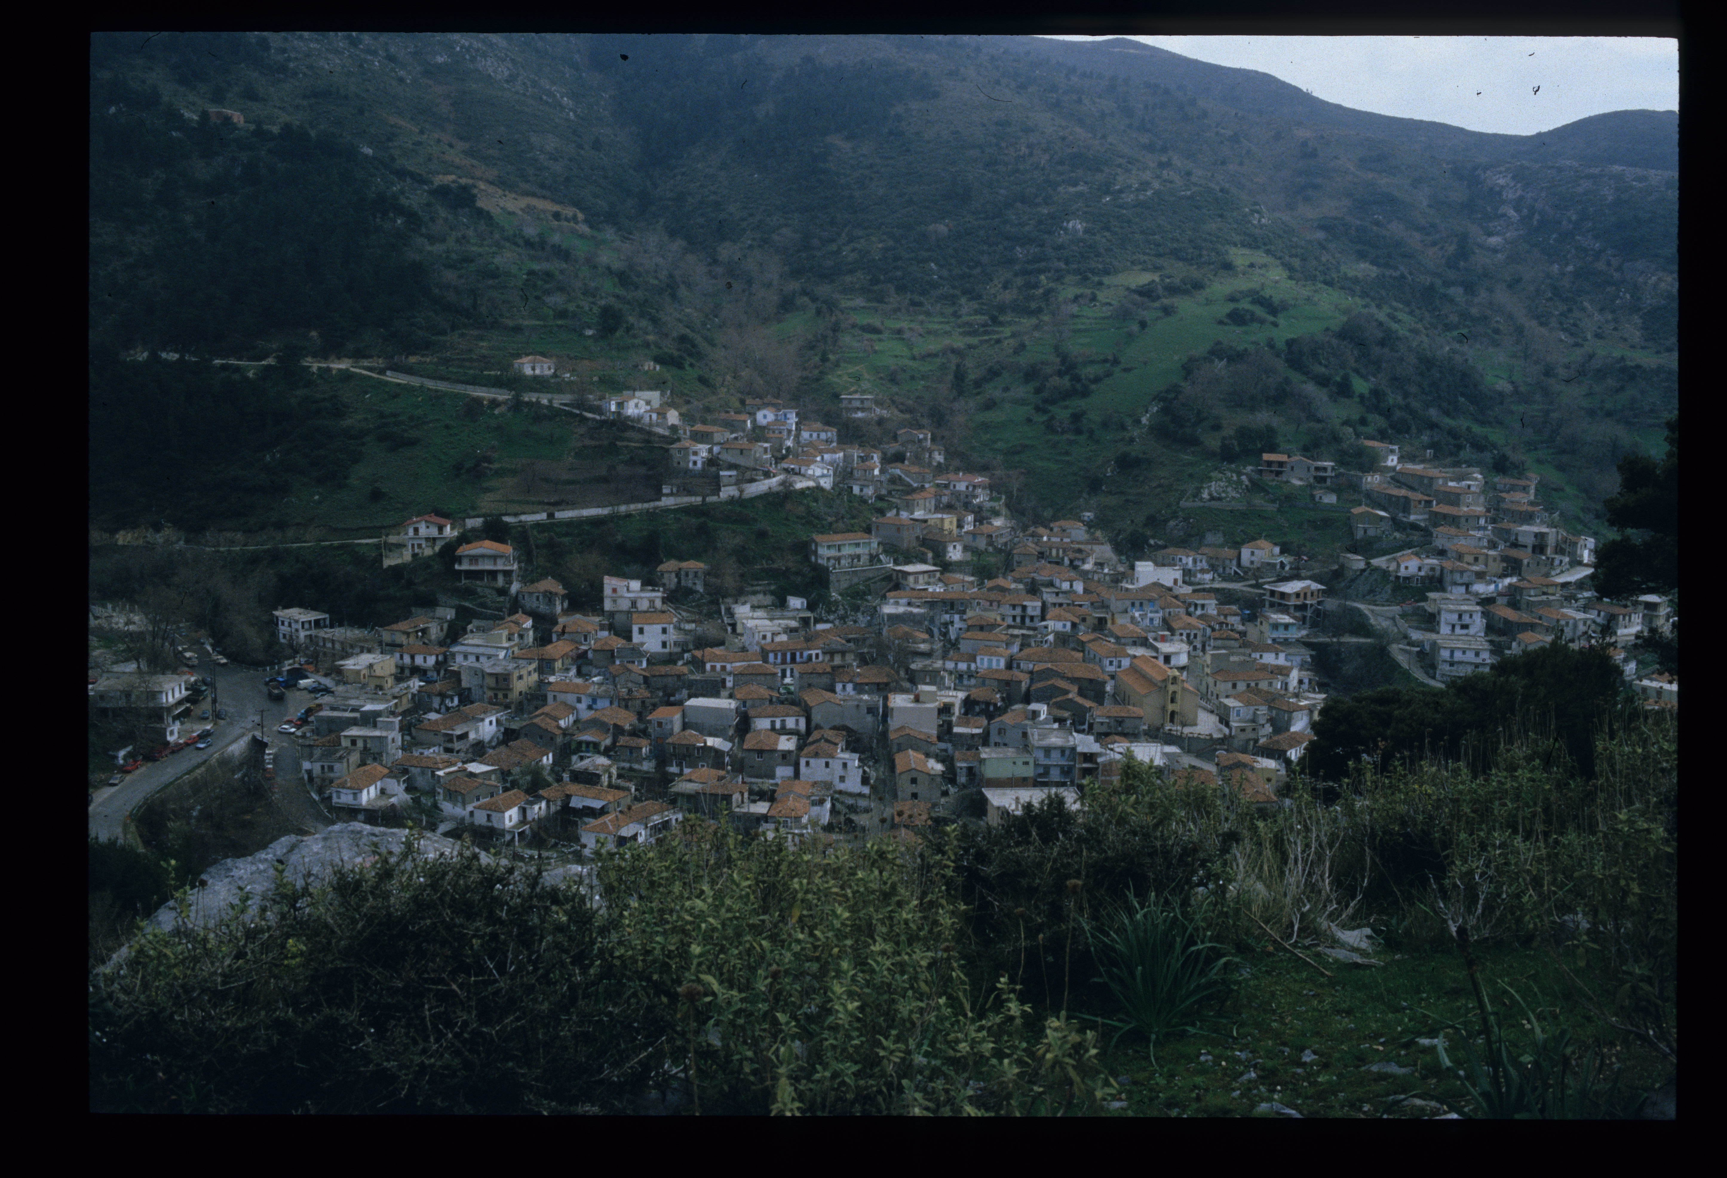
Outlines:
{"type": "Polygon", "coordinates": [[[618,969],[703,1112],[1081,1112],[1095,1033],[974,991],[939,852],[822,855],[705,826],[599,867],[618,969]]]}

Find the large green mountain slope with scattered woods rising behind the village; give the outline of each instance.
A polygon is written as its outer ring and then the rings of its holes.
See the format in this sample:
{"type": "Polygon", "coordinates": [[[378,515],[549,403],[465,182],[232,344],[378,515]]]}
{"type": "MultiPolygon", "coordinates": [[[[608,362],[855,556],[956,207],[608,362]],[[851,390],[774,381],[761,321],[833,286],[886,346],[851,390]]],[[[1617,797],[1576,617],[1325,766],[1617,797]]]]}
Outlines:
{"type": "MultiPolygon", "coordinates": [[[[599,390],[653,358],[696,413],[876,392],[1117,537],[1254,446],[1363,437],[1542,473],[1589,523],[1677,404],[1675,142],[1389,119],[1131,41],[100,35],[98,485],[149,466],[121,423],[195,434],[214,396],[121,354],[541,351],[599,390]]],[[[366,458],[332,439],[319,478],[366,458]]],[[[136,522],[190,522],[164,485],[136,522]]]]}

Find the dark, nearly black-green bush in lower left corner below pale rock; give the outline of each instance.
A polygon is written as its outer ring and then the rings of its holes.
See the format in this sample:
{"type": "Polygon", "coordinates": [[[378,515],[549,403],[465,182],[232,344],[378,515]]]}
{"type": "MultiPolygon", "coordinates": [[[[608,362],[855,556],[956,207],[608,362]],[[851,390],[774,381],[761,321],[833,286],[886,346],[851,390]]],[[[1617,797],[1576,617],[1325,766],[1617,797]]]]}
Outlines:
{"type": "Polygon", "coordinates": [[[98,1111],[551,1112],[632,1093],[663,1033],[575,888],[406,852],[92,976],[98,1111]]]}

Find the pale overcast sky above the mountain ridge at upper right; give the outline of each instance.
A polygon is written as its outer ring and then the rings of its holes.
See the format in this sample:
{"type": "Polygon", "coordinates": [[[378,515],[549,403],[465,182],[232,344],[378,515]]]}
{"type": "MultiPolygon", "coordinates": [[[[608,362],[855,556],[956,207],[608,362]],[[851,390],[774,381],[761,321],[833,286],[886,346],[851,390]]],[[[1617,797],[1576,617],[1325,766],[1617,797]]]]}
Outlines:
{"type": "MultiPolygon", "coordinates": [[[[1093,40],[1093,38],[1067,38],[1093,40]]],[[[1608,111],[1677,111],[1679,41],[1654,36],[1135,36],[1257,69],[1316,98],[1534,135],[1608,111]],[[1539,92],[1535,88],[1540,88],[1539,92]]]]}

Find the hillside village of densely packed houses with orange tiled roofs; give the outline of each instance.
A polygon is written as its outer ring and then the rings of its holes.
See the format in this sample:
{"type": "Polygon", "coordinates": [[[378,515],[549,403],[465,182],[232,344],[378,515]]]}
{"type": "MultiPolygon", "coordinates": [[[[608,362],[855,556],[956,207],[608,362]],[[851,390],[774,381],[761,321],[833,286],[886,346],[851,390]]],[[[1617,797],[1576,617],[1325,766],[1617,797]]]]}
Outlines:
{"type": "MultiPolygon", "coordinates": [[[[554,375],[544,358],[516,366],[554,375]]],[[[682,475],[722,497],[765,478],[879,504],[869,532],[808,537],[836,594],[867,587],[869,624],[819,622],[798,598],[715,601],[691,560],[649,582],[606,577],[603,608],[584,613],[511,544],[473,541],[456,549],[456,575],[506,599],[501,620],[454,632],[454,610],[428,606],[366,630],[275,611],[304,663],[287,686],[304,675],[325,698],[283,725],[314,795],[364,820],[584,850],[653,841],[686,819],[915,839],[943,815],[995,822],[1048,791],[1083,803],[1085,782],[1129,757],[1178,784],[1278,803],[1326,700],[1306,639],[1351,608],[1299,558],[1247,539],[1121,561],[1083,520],[1010,520],[988,478],[943,468],[929,430],[898,430],[884,456],[793,406],[743,408],[696,423],[653,392],[603,402],[677,437],[668,497],[691,489],[682,475]],[[979,554],[988,580],[943,572],[979,554]]],[[[874,413],[867,394],[845,399],[848,418],[874,413]]],[[[1627,648],[1670,629],[1661,598],[1589,594],[1594,541],[1551,518],[1534,478],[1368,446],[1380,454],[1368,473],[1300,454],[1262,454],[1250,473],[1316,499],[1359,496],[1347,510],[1357,551],[1325,575],[1371,567],[1401,587],[1406,608],[1385,624],[1420,648],[1413,670],[1428,681],[1554,639],[1603,641],[1630,679],[1627,648]]],[[[416,516],[385,560],[433,554],[458,532],[416,516]]],[[[1677,706],[1672,677],[1637,689],[1677,706]]]]}

